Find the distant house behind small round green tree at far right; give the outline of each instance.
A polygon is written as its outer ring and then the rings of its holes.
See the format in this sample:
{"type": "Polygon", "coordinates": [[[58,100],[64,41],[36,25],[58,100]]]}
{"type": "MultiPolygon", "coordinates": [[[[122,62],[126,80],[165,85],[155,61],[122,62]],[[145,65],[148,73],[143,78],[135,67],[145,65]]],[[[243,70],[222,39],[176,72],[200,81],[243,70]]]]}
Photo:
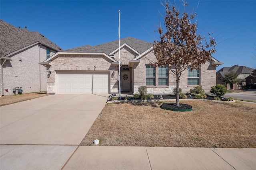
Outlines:
{"type": "Polygon", "coordinates": [[[234,65],[232,67],[223,67],[220,70],[218,70],[216,72],[216,84],[222,84],[226,87],[226,89],[230,90],[230,89],[241,89],[242,86],[245,86],[245,78],[247,76],[249,76],[250,74],[252,74],[252,71],[254,69],[250,68],[250,67],[246,67],[246,66],[238,66],[238,65],[234,65]],[[228,72],[235,72],[236,74],[238,74],[238,78],[241,79],[241,84],[232,84],[231,86],[229,84],[224,84],[223,83],[223,78],[224,75],[228,72]]]}

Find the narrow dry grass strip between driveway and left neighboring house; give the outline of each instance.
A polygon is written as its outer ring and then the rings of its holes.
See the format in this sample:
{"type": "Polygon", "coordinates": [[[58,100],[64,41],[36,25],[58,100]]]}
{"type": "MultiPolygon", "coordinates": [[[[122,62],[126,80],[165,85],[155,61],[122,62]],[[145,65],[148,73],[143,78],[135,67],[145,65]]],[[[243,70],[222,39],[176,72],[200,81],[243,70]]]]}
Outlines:
{"type": "Polygon", "coordinates": [[[22,102],[22,101],[30,100],[30,99],[34,99],[34,98],[40,98],[40,97],[46,96],[46,95],[47,95],[46,93],[28,93],[28,94],[1,96],[0,97],[0,106],[5,106],[8,104],[22,102]]]}

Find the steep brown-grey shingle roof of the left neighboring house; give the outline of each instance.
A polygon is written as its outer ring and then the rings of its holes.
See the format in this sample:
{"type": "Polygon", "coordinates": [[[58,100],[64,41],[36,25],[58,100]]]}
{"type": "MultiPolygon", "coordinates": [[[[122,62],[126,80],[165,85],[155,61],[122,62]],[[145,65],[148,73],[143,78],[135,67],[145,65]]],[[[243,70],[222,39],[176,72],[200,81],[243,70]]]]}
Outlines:
{"type": "Polygon", "coordinates": [[[36,31],[14,27],[3,20],[0,20],[0,32],[0,57],[8,57],[8,55],[13,54],[15,51],[36,43],[42,43],[54,51],[62,51],[58,45],[44,37],[44,35],[36,31]]]}

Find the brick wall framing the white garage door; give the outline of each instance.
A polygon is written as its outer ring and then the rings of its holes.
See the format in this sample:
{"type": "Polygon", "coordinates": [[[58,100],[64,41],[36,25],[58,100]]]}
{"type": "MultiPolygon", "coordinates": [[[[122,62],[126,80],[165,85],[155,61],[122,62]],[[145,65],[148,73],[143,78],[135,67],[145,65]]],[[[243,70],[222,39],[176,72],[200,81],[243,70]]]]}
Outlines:
{"type": "Polygon", "coordinates": [[[51,66],[47,66],[47,70],[51,71],[47,78],[47,93],[57,93],[58,71],[109,71],[110,93],[118,92],[118,66],[111,63],[112,61],[103,55],[60,55],[52,61],[51,66]]]}

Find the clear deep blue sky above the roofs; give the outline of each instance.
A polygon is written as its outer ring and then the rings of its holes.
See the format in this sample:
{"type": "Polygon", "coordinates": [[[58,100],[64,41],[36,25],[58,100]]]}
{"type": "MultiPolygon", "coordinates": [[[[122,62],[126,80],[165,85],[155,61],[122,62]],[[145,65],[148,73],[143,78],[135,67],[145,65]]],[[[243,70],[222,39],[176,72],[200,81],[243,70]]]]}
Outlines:
{"type": "MultiPolygon", "coordinates": [[[[0,0],[0,19],[16,27],[26,26],[62,49],[71,49],[117,40],[120,10],[121,39],[134,37],[153,42],[159,38],[154,32],[157,25],[164,24],[165,10],[160,2],[0,0]]],[[[181,6],[179,0],[176,4],[181,6]]],[[[213,31],[216,36],[217,53],[213,57],[225,63],[217,70],[236,64],[256,68],[256,59],[252,59],[256,47],[256,0],[190,0],[188,4],[198,14],[198,33],[213,31]]]]}

